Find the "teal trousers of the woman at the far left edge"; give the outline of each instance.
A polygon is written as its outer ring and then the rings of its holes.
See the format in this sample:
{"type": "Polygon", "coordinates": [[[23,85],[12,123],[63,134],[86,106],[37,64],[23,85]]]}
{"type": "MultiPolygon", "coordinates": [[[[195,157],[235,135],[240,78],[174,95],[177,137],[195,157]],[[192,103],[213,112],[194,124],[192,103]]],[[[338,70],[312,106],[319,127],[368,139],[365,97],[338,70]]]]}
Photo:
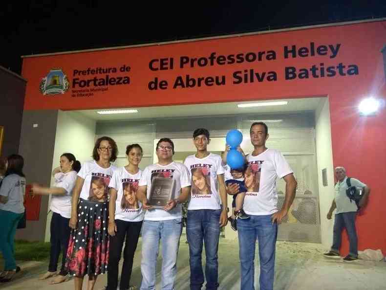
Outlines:
{"type": "Polygon", "coordinates": [[[12,211],[0,209],[0,251],[4,258],[4,270],[15,270],[15,234],[19,220],[24,213],[17,214],[12,211]]]}

